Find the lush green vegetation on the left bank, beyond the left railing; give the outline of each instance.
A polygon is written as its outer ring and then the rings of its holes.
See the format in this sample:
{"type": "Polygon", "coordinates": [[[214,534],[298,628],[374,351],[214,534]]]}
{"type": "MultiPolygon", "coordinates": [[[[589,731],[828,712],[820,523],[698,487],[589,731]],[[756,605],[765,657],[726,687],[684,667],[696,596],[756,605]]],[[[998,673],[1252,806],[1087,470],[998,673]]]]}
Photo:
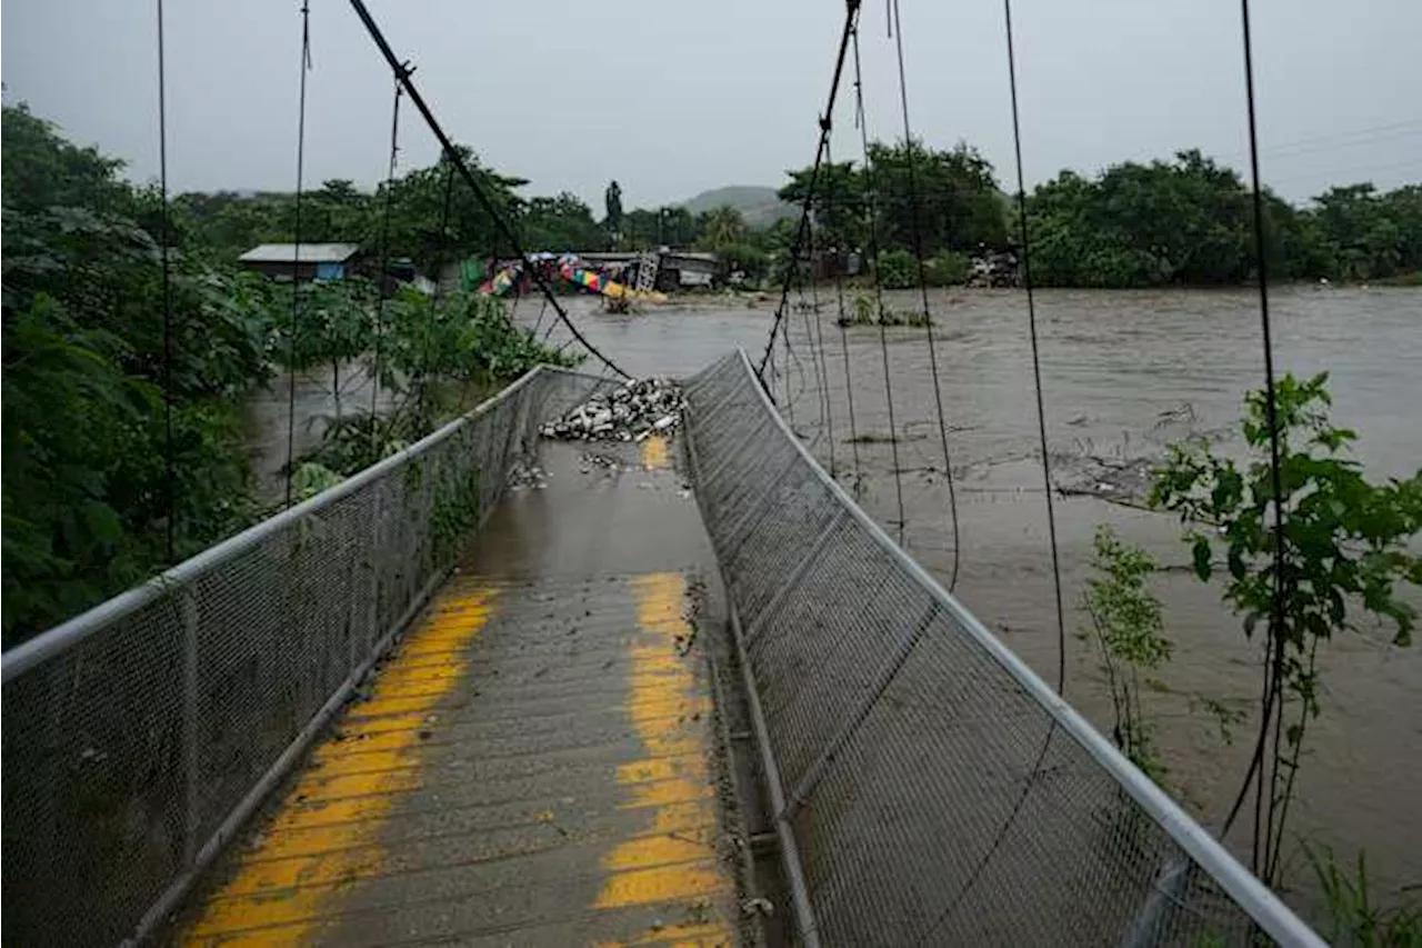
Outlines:
{"type": "MultiPolygon", "coordinates": [[[[24,107],[0,107],[0,648],[270,512],[242,406],[279,370],[361,364],[370,376],[378,340],[392,409],[373,416],[367,394],[333,420],[316,457],[299,460],[331,468],[307,465],[310,487],[419,437],[461,391],[567,362],[488,297],[401,289],[377,306],[361,280],[301,285],[293,339],[292,285],[233,265],[249,241],[290,236],[284,198],[172,202],[165,293],[155,189],[24,107]]],[[[442,245],[489,251],[492,223],[472,201],[449,232],[431,223],[444,181],[427,168],[397,184],[392,252],[438,263],[442,245]]],[[[328,182],[310,212],[331,236],[367,241],[371,202],[328,182]]]]}

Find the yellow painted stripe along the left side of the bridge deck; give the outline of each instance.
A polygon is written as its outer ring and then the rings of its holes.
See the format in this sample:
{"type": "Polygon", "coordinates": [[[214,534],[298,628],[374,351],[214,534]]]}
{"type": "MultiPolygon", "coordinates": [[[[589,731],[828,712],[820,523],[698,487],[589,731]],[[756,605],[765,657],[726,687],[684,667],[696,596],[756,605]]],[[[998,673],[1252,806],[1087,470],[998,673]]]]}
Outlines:
{"type": "MultiPolygon", "coordinates": [[[[422,652],[459,652],[488,623],[495,592],[474,584],[447,588],[400,655],[377,676],[361,715],[431,715],[461,682],[468,665],[421,676],[419,697],[401,660],[422,652]]],[[[421,669],[427,672],[428,669],[421,669]]],[[[212,895],[202,915],[179,938],[186,945],[300,945],[310,941],[319,914],[346,883],[368,875],[385,860],[375,846],[395,794],[419,786],[419,729],[383,733],[378,746],[346,740],[338,727],[313,757],[313,767],[287,793],[256,846],[237,860],[232,880],[212,895]],[[340,797],[340,799],[336,799],[340,797]],[[323,800],[324,799],[324,800],[323,800]],[[328,800],[328,806],[321,806],[328,800]],[[289,924],[293,920],[304,922],[289,924]],[[242,929],[267,928],[233,938],[242,929]]]]}

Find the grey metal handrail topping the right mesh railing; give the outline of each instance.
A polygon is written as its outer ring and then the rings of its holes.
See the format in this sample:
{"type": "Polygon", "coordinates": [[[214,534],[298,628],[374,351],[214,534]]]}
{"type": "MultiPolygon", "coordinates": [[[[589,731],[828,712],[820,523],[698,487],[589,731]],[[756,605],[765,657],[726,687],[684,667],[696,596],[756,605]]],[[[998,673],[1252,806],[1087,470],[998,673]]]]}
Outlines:
{"type": "Polygon", "coordinates": [[[963,606],[941,584],[903,551],[889,534],[866,514],[859,504],[832,478],[815,455],[811,454],[791,427],[775,410],[765,389],[755,377],[749,356],[738,349],[741,366],[748,384],[755,389],[762,407],[775,420],[781,434],[788,438],[801,457],[822,481],[822,485],[849,511],[850,517],[865,530],[899,567],[913,578],[967,631],[970,636],[1012,676],[1012,679],[1066,732],[1111,777],[1125,790],[1166,834],[1219,883],[1220,888],[1240,905],[1258,927],[1280,945],[1298,948],[1325,948],[1325,944],[1303,920],[1298,918],[1273,891],[1239,863],[1209,831],[1196,823],[1159,786],[1146,777],[1130,760],[1106,740],[1081,713],[1058,695],[1037,672],[993,635],[967,608],[963,606]]]}

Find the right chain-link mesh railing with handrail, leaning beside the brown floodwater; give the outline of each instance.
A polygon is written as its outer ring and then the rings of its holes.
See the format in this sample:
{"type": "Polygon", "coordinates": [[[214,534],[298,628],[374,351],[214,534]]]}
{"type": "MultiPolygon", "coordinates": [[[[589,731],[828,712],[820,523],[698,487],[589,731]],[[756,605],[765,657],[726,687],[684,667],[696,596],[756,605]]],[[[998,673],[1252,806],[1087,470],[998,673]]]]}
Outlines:
{"type": "Polygon", "coordinates": [[[803,944],[1322,944],[859,510],[744,353],[687,396],[803,944]]]}

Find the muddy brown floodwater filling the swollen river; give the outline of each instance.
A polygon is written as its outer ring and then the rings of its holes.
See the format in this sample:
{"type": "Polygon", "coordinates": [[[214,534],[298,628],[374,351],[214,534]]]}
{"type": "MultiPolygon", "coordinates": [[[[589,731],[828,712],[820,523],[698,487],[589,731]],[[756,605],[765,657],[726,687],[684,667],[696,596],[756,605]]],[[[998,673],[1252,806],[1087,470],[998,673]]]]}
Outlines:
{"type": "MultiPolygon", "coordinates": [[[[890,293],[890,305],[913,309],[916,296],[890,293]]],[[[1249,292],[1042,292],[1038,326],[1048,443],[1058,485],[1095,484],[1091,458],[1150,458],[1190,431],[1229,434],[1247,389],[1263,379],[1257,299],[1249,292]]],[[[1374,477],[1422,465],[1422,293],[1322,290],[1274,295],[1281,370],[1332,374],[1334,417],[1359,431],[1358,455],[1374,477]]],[[[899,501],[889,443],[889,400],[879,330],[835,326],[835,303],[822,293],[822,326],[795,313],[788,391],[795,427],[842,480],[857,464],[863,504],[890,534],[899,501]],[[806,344],[823,335],[829,411],[819,397],[818,360],[806,344]],[[848,354],[848,367],[846,367],[848,354]],[[846,384],[846,372],[849,383],[846,384]],[[850,443],[855,430],[872,443],[850,443]],[[828,417],[822,417],[828,416],[828,417]],[[830,428],[833,436],[830,436],[830,428]]],[[[889,381],[903,481],[903,542],[984,623],[1044,678],[1057,678],[1057,622],[1037,413],[1031,386],[1025,296],[1018,292],[939,292],[931,297],[939,380],[957,481],[958,542],[950,530],[934,386],[923,329],[887,332],[889,381]],[[956,552],[954,552],[956,548],[956,552]]],[[[630,316],[602,313],[594,300],[572,300],[590,340],[633,374],[684,374],[741,344],[759,354],[774,302],[705,302],[648,307],[630,316]]],[[[525,302],[516,317],[539,320],[525,302]]],[[[543,313],[542,326],[549,326],[543,313]]],[[[540,330],[542,332],[542,330],[540,330]]],[[[567,339],[555,327],[553,342],[567,339]]],[[[785,353],[776,362],[782,366],[785,353]]],[[[592,363],[589,363],[592,364],[592,363]]],[[[784,400],[784,399],[782,399],[784,400]]],[[[1185,567],[1189,551],[1169,517],[1129,510],[1101,497],[1058,498],[1058,539],[1068,609],[1066,695],[1109,729],[1109,703],[1098,660],[1074,636],[1089,575],[1091,539],[1111,522],[1163,564],[1185,567]]],[[[1148,696],[1169,763],[1166,783],[1206,823],[1229,807],[1247,760],[1250,726],[1233,744],[1221,742],[1202,709],[1217,700],[1251,712],[1258,655],[1239,622],[1219,605],[1219,586],[1187,569],[1162,575],[1175,658],[1165,689],[1148,696]]],[[[1369,874],[1394,892],[1422,883],[1422,648],[1396,649],[1382,633],[1349,635],[1322,659],[1322,716],[1311,725],[1293,828],[1318,834],[1351,863],[1368,851],[1369,874]]],[[[1241,820],[1243,823],[1243,820],[1241,820]]],[[[1247,828],[1247,827],[1243,827],[1247,828]]],[[[1247,846],[1237,834],[1237,848],[1247,846]]],[[[1307,884],[1300,863],[1291,877],[1307,884]]]]}

